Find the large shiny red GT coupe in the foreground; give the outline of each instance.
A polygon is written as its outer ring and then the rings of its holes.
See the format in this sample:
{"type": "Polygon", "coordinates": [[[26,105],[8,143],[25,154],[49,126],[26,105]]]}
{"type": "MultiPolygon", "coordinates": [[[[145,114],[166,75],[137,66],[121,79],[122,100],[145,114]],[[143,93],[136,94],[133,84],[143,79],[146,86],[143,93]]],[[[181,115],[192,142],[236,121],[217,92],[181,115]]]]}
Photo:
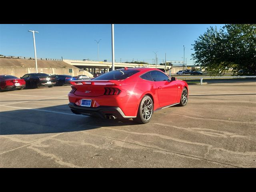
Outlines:
{"type": "Polygon", "coordinates": [[[155,68],[122,68],[71,84],[68,105],[75,114],[148,123],[154,111],[188,102],[188,84],[155,68]]]}

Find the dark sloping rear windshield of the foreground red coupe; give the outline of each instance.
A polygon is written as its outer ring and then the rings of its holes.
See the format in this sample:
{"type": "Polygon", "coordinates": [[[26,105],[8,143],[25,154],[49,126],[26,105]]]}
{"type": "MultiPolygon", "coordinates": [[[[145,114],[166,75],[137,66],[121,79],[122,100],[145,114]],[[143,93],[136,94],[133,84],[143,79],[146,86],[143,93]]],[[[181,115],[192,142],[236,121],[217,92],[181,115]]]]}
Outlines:
{"type": "Polygon", "coordinates": [[[94,78],[93,80],[122,80],[138,72],[138,70],[114,70],[104,73],[101,76],[94,78]]]}

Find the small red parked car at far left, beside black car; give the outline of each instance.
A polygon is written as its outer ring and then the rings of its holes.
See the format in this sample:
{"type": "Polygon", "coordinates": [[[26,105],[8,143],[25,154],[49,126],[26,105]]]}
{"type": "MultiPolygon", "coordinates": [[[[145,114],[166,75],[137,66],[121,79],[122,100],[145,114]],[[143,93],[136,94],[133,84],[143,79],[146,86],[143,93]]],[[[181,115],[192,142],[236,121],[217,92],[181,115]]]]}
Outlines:
{"type": "Polygon", "coordinates": [[[24,79],[12,75],[0,75],[0,90],[22,90],[24,87],[26,87],[24,79]]]}

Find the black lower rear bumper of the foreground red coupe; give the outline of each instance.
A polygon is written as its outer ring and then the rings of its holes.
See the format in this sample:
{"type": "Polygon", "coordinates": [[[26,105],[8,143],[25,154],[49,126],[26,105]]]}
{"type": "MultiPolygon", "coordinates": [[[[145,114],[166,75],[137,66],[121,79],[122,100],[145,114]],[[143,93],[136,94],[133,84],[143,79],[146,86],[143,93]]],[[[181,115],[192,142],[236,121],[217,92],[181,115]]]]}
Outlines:
{"type": "Polygon", "coordinates": [[[136,118],[136,116],[125,116],[124,112],[119,107],[114,106],[83,107],[71,102],[68,104],[68,106],[72,112],[76,114],[98,115],[101,118],[107,118],[106,116],[110,115],[113,115],[116,118],[136,118]]]}

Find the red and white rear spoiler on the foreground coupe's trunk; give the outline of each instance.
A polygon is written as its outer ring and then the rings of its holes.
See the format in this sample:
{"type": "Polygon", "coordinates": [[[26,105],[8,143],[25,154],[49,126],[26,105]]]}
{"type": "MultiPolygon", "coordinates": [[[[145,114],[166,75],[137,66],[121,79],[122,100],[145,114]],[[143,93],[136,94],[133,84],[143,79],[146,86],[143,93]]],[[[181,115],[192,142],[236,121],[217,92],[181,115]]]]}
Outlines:
{"type": "Polygon", "coordinates": [[[121,85],[120,80],[72,80],[72,85],[121,85]]]}

